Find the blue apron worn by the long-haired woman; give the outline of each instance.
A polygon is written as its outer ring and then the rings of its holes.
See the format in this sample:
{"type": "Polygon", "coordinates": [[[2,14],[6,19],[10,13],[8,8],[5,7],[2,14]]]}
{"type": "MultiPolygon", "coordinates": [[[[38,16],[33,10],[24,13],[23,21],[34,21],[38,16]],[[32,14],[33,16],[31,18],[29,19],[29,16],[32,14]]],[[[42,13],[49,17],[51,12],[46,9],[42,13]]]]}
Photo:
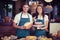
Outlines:
{"type": "MultiPolygon", "coordinates": [[[[36,19],[36,22],[42,22],[42,24],[44,25],[44,18],[42,20],[36,19]]],[[[35,36],[37,36],[37,37],[46,36],[46,31],[45,30],[41,30],[41,29],[36,29],[35,30],[35,36]]]]}

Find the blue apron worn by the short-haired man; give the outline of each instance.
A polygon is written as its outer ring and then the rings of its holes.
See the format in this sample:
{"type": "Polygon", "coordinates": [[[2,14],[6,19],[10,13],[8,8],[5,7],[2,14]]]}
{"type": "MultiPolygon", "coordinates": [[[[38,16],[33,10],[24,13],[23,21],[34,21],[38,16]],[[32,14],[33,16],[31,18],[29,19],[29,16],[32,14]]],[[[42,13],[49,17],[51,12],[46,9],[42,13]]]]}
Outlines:
{"type": "MultiPolygon", "coordinates": [[[[23,26],[26,22],[30,22],[30,18],[29,18],[29,15],[28,15],[28,18],[22,18],[22,14],[21,14],[21,17],[20,17],[20,22],[19,22],[19,26],[23,26]]],[[[17,29],[16,30],[16,35],[18,38],[23,38],[23,37],[26,37],[26,36],[29,36],[30,35],[30,30],[29,29],[17,29]]]]}

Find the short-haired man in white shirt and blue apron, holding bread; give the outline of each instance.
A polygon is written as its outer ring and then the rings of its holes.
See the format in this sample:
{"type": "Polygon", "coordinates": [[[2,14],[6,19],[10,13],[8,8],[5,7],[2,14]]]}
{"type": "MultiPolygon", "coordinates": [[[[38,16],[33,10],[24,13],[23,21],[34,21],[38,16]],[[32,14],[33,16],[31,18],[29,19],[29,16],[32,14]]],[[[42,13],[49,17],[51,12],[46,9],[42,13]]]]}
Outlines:
{"type": "Polygon", "coordinates": [[[28,13],[28,9],[29,6],[27,4],[24,4],[23,11],[15,16],[13,26],[17,28],[16,35],[18,36],[18,38],[24,38],[30,35],[30,31],[29,31],[30,28],[26,29],[25,27],[28,24],[32,25],[32,16],[28,13]]]}

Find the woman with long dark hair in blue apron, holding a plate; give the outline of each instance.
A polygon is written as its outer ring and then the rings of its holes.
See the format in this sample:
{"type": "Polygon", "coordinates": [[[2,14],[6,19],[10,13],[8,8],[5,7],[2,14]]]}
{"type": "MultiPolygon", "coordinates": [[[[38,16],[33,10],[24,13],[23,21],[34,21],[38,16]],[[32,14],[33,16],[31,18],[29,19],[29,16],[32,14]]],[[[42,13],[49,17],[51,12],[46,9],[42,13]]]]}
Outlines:
{"type": "Polygon", "coordinates": [[[41,5],[37,6],[37,13],[38,15],[36,17],[34,25],[34,27],[36,28],[35,36],[46,36],[46,30],[48,28],[48,16],[44,15],[43,7],[41,5]]]}

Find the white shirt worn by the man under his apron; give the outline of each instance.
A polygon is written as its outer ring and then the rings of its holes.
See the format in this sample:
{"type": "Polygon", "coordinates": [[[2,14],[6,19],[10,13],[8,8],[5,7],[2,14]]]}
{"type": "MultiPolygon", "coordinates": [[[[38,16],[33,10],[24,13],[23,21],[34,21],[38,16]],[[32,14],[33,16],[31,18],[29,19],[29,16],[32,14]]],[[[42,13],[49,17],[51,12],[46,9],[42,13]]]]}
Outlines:
{"type": "MultiPolygon", "coordinates": [[[[21,19],[20,19],[21,14],[22,14],[22,12],[18,13],[18,14],[15,16],[15,18],[14,18],[14,22],[17,23],[17,25],[19,25],[19,22],[20,22],[20,20],[21,20],[21,19]]],[[[31,16],[29,13],[27,13],[27,14],[28,14],[29,17],[30,17],[30,22],[33,23],[32,16],[31,16]]],[[[22,18],[28,18],[28,15],[22,14],[22,18]]]]}

